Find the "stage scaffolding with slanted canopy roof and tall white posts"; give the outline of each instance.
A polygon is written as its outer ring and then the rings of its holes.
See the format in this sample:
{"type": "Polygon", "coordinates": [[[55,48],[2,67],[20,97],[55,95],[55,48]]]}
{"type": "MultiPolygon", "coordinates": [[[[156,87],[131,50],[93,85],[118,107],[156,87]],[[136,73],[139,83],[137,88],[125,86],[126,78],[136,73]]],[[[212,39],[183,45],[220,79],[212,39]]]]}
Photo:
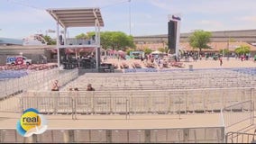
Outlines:
{"type": "Polygon", "coordinates": [[[46,10],[56,21],[57,29],[57,55],[58,67],[60,66],[59,49],[78,49],[95,48],[96,49],[96,69],[100,65],[100,27],[104,26],[103,18],[99,8],[50,8],[46,10]],[[64,29],[64,43],[59,40],[59,25],[64,29]],[[95,27],[95,41],[88,44],[73,44],[67,42],[67,30],[71,27],[95,27]]]}

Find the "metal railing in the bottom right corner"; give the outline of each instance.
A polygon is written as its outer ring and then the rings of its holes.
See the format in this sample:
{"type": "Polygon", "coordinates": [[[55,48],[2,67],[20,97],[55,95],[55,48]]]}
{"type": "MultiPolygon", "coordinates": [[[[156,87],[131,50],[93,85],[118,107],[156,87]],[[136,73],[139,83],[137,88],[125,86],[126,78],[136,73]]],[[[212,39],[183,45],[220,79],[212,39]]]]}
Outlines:
{"type": "Polygon", "coordinates": [[[255,143],[256,134],[245,132],[228,132],[225,134],[225,143],[255,143]]]}

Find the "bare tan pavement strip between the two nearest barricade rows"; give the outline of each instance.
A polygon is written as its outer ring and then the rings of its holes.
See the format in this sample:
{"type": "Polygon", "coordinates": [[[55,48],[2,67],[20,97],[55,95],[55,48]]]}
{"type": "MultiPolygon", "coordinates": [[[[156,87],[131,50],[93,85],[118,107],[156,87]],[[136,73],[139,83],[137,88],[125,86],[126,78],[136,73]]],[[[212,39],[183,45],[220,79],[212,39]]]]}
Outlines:
{"type": "MultiPolygon", "coordinates": [[[[222,126],[219,113],[180,115],[45,115],[49,129],[166,129],[222,126]]],[[[15,129],[20,113],[0,112],[0,129],[15,129]]]]}

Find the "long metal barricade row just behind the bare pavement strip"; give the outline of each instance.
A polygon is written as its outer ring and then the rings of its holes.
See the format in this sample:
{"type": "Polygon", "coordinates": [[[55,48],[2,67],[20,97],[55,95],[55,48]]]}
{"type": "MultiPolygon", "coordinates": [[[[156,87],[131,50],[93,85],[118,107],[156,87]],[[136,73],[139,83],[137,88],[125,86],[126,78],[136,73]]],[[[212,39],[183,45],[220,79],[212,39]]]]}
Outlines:
{"type": "MultiPolygon", "coordinates": [[[[187,113],[220,112],[227,105],[253,101],[251,88],[125,92],[26,92],[23,110],[33,107],[44,113],[187,113]],[[123,95],[122,95],[123,94],[123,95]]],[[[5,104],[11,109],[13,105],[5,104]]],[[[18,111],[18,110],[17,110],[18,111]]],[[[21,111],[21,110],[20,110],[21,111]]],[[[247,111],[246,111],[247,112],[247,111]]]]}

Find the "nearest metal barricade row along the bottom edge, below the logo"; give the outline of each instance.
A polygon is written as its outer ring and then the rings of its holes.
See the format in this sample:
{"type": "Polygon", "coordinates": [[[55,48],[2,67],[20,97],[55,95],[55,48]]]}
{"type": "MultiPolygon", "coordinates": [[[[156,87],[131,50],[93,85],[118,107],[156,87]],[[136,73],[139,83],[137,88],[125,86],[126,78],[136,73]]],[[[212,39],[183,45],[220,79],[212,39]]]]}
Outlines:
{"type": "Polygon", "coordinates": [[[46,130],[24,138],[14,129],[0,130],[0,143],[223,143],[224,127],[177,129],[64,129],[46,130]]]}

